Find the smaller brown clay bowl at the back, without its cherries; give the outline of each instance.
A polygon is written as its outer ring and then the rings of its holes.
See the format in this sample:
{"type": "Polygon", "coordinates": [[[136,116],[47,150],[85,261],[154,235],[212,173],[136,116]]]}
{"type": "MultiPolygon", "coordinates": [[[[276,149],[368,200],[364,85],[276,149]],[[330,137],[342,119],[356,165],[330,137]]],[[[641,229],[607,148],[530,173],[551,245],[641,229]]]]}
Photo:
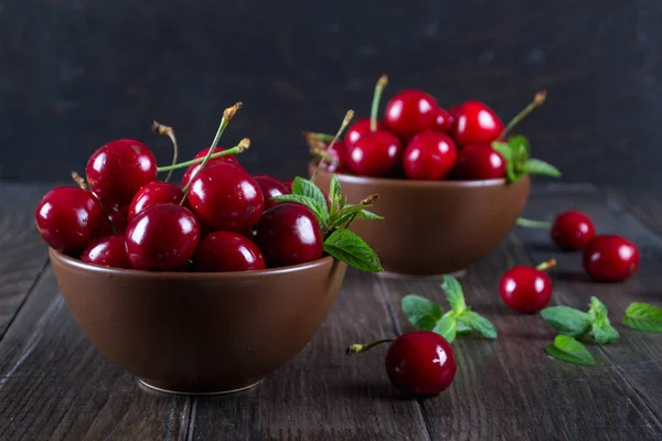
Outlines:
{"type": "MultiPolygon", "coordinates": [[[[484,257],[512,229],[531,190],[527,175],[511,184],[337,175],[351,204],[380,195],[370,209],[385,218],[356,219],[350,229],[373,247],[386,273],[409,276],[456,273],[484,257]]],[[[320,189],[328,191],[330,180],[318,172],[320,189]]]]}

